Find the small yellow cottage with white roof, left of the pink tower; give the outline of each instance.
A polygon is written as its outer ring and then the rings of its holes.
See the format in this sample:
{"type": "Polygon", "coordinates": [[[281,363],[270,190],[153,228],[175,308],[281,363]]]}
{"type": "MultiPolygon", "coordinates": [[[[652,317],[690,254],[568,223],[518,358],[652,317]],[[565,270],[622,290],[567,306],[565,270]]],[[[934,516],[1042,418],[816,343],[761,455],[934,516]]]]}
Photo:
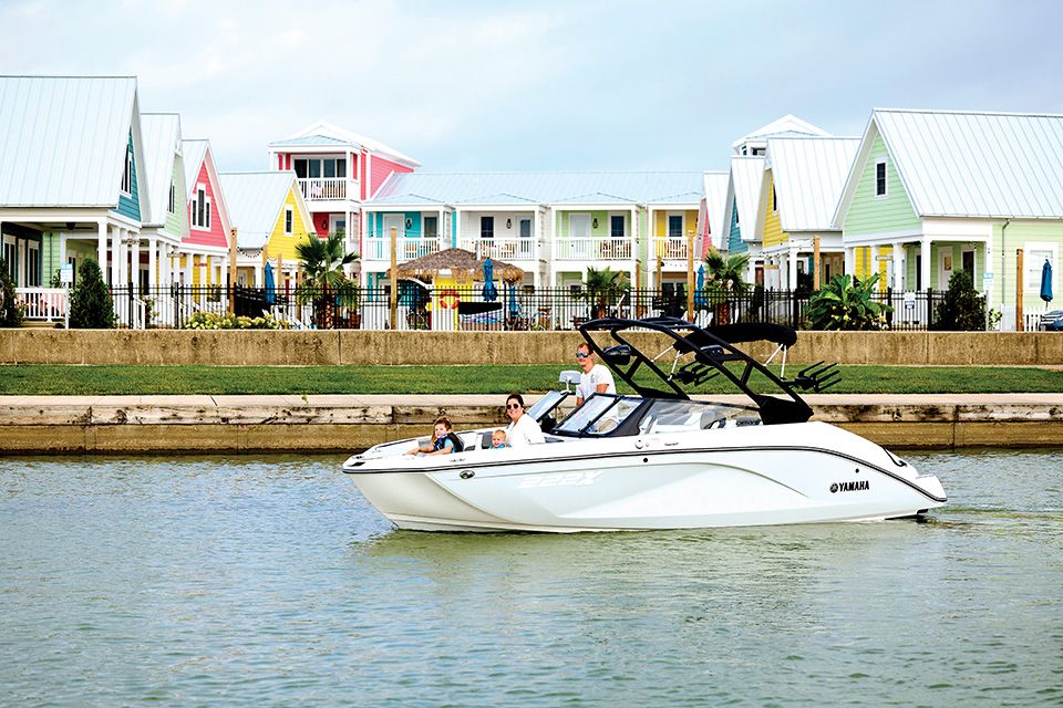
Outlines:
{"type": "Polygon", "coordinates": [[[296,173],[226,173],[221,188],[236,227],[237,284],[262,287],[268,262],[275,273],[280,268],[279,282],[274,283],[278,291],[295,290],[296,244],[308,237],[318,238],[296,173]]]}

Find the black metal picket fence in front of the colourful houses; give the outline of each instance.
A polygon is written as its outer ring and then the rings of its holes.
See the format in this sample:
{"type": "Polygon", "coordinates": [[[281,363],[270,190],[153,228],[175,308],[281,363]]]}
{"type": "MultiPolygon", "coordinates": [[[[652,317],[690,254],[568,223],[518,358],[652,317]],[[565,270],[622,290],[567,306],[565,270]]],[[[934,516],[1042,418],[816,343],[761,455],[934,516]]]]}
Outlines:
{"type": "MultiPolygon", "coordinates": [[[[809,292],[756,288],[742,295],[700,295],[693,316],[687,311],[682,288],[631,290],[597,294],[586,290],[499,287],[493,300],[483,288],[440,288],[400,283],[394,329],[438,331],[555,331],[574,330],[601,316],[644,317],[671,315],[695,324],[775,322],[807,329],[809,292]]],[[[237,316],[264,317],[272,326],[290,329],[392,327],[390,288],[359,289],[353,296],[313,291],[307,298],[292,292],[219,285],[112,289],[120,326],[210,326],[210,320],[237,316]]],[[[876,300],[892,308],[885,315],[887,329],[926,330],[943,292],[894,293],[876,300]]],[[[247,325],[247,322],[242,324],[247,325]]]]}

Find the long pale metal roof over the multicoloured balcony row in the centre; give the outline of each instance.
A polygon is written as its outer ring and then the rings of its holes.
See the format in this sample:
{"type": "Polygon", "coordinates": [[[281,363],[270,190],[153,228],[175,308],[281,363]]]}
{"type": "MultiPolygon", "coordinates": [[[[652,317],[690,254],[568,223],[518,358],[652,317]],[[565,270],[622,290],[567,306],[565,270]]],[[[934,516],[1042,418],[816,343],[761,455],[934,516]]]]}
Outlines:
{"type": "Polygon", "coordinates": [[[689,195],[696,208],[703,173],[404,173],[389,177],[367,205],[405,204],[403,196],[450,205],[484,204],[499,195],[512,202],[639,204],[689,195]]]}

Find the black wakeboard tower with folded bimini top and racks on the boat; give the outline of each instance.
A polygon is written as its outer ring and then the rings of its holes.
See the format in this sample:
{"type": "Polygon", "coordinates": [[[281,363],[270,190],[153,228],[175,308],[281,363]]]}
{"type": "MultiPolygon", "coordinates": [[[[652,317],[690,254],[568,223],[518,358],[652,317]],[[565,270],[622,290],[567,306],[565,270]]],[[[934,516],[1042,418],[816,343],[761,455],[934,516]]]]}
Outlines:
{"type": "MultiPolygon", "coordinates": [[[[683,386],[696,386],[722,374],[756,404],[764,425],[808,420],[812,417],[812,408],[797,395],[795,388],[818,392],[838,381],[837,371],[833,368],[834,364],[812,371],[819,367],[823,362],[803,369],[793,381],[786,381],[773,374],[766,366],[735,346],[735,344],[746,342],[767,341],[777,344],[785,351],[797,342],[797,332],[782,324],[739,323],[715,327],[699,327],[677,317],[648,317],[644,320],[606,317],[582,324],[579,332],[602,363],[639,395],[647,398],[689,399],[690,396],[683,389],[683,386]],[[661,354],[650,358],[640,352],[625,337],[628,330],[650,330],[665,334],[671,340],[669,348],[675,352],[675,362],[680,356],[687,354],[693,355],[693,361],[678,368],[673,366],[670,372],[665,372],[656,363],[661,354]],[[617,344],[601,348],[591,337],[591,332],[609,332],[617,344]],[[734,362],[744,364],[744,366],[730,368],[724,365],[734,362]],[[634,374],[642,367],[647,367],[656,374],[667,387],[659,389],[636,383],[634,374]],[[752,391],[750,388],[750,376],[754,372],[772,382],[782,396],[765,395],[752,391]]],[[[664,351],[668,352],[669,350],[665,348],[664,351]]]]}

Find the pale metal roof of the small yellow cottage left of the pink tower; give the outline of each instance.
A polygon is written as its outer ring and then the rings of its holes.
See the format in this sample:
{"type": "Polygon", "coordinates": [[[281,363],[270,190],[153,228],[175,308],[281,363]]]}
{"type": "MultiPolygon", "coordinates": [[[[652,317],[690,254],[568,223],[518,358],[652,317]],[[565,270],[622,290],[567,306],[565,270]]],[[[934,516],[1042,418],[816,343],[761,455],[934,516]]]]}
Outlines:
{"type": "Polygon", "coordinates": [[[236,227],[237,247],[254,250],[266,246],[277,227],[288,192],[292,189],[299,192],[296,189],[296,173],[288,169],[223,173],[218,178],[225,192],[229,220],[236,227]]]}

